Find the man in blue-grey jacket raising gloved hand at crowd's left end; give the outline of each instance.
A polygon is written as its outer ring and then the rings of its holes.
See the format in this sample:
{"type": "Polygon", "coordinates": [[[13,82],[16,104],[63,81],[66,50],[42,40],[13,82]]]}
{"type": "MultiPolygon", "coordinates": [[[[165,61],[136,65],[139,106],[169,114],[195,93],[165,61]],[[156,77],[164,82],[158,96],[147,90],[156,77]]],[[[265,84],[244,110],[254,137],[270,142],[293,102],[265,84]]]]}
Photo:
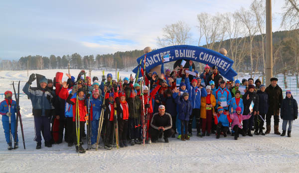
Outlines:
{"type": "Polygon", "coordinates": [[[28,95],[32,103],[32,114],[35,125],[35,141],[37,142],[36,149],[41,148],[41,130],[43,128],[43,137],[45,140],[45,147],[52,147],[51,132],[50,132],[50,117],[54,116],[55,111],[51,99],[53,95],[46,87],[48,80],[42,78],[39,81],[40,86],[36,89],[31,89],[31,84],[35,80],[35,74],[31,74],[28,82],[23,87],[23,92],[28,95]]]}

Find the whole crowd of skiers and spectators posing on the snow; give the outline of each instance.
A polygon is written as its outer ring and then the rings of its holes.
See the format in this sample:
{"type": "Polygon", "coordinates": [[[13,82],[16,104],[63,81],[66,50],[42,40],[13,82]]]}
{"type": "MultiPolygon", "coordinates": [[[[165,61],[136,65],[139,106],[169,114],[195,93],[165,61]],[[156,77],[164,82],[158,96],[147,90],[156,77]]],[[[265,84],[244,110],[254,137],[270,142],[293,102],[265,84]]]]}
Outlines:
{"type": "MultiPolygon", "coordinates": [[[[219,139],[221,135],[231,134],[237,140],[239,134],[253,136],[252,130],[255,135],[265,135],[271,131],[272,116],[275,134],[285,136],[287,132],[291,137],[293,120],[298,117],[298,104],[291,91],[287,91],[283,98],[277,78],[272,78],[271,85],[266,87],[259,79],[254,83],[252,78],[243,79],[242,83],[239,80],[225,82],[217,66],[206,66],[201,74],[193,70],[196,76],[185,71],[192,71],[192,68],[181,66],[172,72],[168,69],[164,72],[163,68],[161,75],[141,68],[137,80],[131,76],[117,81],[108,74],[99,81],[98,77],[83,78],[85,71],[81,71],[77,79],[66,74],[68,80],[62,82],[56,74],[53,81],[45,77],[39,79],[37,87],[31,86],[36,77],[30,75],[23,91],[32,103],[36,149],[41,148],[43,135],[45,147],[60,144],[64,138],[69,147],[75,145],[77,152],[85,153],[82,139],[86,139],[88,118],[91,120],[93,149],[98,147],[99,126],[102,128],[99,135],[107,150],[116,144],[120,147],[127,147],[128,143],[132,146],[142,144],[143,141],[150,144],[160,138],[165,143],[170,137],[190,140],[194,126],[198,137],[216,134],[219,139]],[[180,84],[176,84],[177,78],[182,79],[180,84]],[[79,136],[75,122],[77,115],[80,117],[79,136]],[[104,116],[103,125],[100,125],[101,116],[104,116]],[[279,116],[283,119],[282,134],[279,132],[279,116]],[[116,124],[118,131],[115,131],[116,124]],[[115,141],[115,136],[119,141],[115,141]]],[[[5,99],[0,103],[7,144],[11,142],[7,119],[11,116],[13,124],[16,111],[11,96],[12,93],[6,91],[5,99]],[[12,106],[9,111],[8,105],[12,106]]],[[[12,136],[17,141],[14,133],[12,136]]]]}

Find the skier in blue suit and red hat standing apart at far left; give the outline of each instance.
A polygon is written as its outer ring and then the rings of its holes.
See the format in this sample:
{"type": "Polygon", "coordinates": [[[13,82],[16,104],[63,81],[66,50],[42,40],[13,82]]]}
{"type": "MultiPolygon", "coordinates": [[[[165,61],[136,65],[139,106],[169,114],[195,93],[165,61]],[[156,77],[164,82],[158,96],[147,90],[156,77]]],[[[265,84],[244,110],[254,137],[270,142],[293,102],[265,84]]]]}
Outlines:
{"type": "Polygon", "coordinates": [[[8,145],[7,149],[12,149],[12,141],[10,141],[9,134],[9,117],[11,123],[11,136],[15,143],[15,148],[18,148],[18,138],[15,136],[15,113],[19,107],[16,107],[16,102],[12,100],[12,92],[7,90],[4,92],[5,99],[0,103],[0,114],[2,115],[2,125],[5,134],[5,140],[8,145]],[[10,107],[10,108],[9,108],[10,107]],[[9,111],[10,109],[10,111],[9,111]]]}

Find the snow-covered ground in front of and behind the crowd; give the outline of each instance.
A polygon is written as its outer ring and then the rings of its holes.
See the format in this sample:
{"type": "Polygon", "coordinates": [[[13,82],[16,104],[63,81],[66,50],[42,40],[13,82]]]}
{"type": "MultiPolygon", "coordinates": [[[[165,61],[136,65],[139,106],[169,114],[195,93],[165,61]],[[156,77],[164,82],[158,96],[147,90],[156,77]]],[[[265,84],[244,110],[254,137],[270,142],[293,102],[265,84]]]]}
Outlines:
{"type": "MultiPolygon", "coordinates": [[[[53,79],[55,73],[67,73],[67,70],[29,71],[53,79]]],[[[80,70],[71,70],[77,77],[80,70]]],[[[107,75],[108,72],[105,72],[107,75]]],[[[115,76],[115,72],[111,72],[115,76]]],[[[93,71],[93,76],[101,78],[101,71],[93,71]]],[[[130,77],[130,72],[121,72],[120,76],[130,77]]],[[[64,75],[64,80],[67,77],[64,75]]],[[[248,79],[248,77],[247,77],[248,79]]],[[[13,91],[11,81],[27,81],[27,71],[0,71],[0,93],[13,91]]],[[[240,79],[242,80],[242,78],[240,79]]],[[[20,90],[25,82],[21,82],[20,90]]],[[[36,83],[33,82],[32,86],[36,83]]],[[[22,91],[20,91],[22,92],[22,91]]],[[[4,97],[1,97],[4,99],[4,97]]],[[[13,96],[14,99],[14,96],[13,96]]],[[[299,98],[296,97],[299,101],[299,98]]],[[[20,128],[19,148],[8,151],[2,125],[0,125],[0,173],[52,173],[52,172],[93,172],[93,173],[298,173],[299,168],[299,121],[294,121],[292,138],[281,137],[272,131],[266,136],[240,137],[237,141],[232,136],[216,140],[210,137],[191,137],[190,141],[170,138],[169,143],[162,141],[155,144],[135,145],[107,151],[87,151],[78,154],[75,147],[67,147],[63,142],[35,150],[34,123],[30,100],[20,96],[26,150],[23,149],[20,128]]],[[[273,120],[272,120],[273,121],[273,120]]],[[[280,131],[282,122],[280,123],[280,131]]],[[[195,129],[193,129],[195,130],[195,129]]],[[[194,132],[195,133],[195,132],[194,132]]],[[[193,134],[194,134],[193,133],[193,134]]],[[[195,133],[196,134],[196,133],[195,133]]],[[[84,141],[84,148],[87,148],[84,141]]],[[[100,145],[103,146],[103,143],[100,145]]]]}

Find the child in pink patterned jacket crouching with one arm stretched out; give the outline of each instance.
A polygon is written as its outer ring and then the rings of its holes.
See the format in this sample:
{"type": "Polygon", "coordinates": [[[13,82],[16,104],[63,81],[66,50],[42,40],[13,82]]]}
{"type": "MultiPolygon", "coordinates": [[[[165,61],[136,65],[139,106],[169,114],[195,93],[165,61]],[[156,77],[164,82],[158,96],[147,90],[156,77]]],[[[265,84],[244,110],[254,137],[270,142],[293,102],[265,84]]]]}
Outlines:
{"type": "Polygon", "coordinates": [[[242,127],[242,121],[251,117],[251,112],[248,115],[241,114],[241,107],[236,108],[236,112],[233,113],[234,109],[231,108],[230,118],[232,119],[232,129],[235,131],[235,140],[238,140],[239,134],[246,136],[245,131],[242,127]]]}

